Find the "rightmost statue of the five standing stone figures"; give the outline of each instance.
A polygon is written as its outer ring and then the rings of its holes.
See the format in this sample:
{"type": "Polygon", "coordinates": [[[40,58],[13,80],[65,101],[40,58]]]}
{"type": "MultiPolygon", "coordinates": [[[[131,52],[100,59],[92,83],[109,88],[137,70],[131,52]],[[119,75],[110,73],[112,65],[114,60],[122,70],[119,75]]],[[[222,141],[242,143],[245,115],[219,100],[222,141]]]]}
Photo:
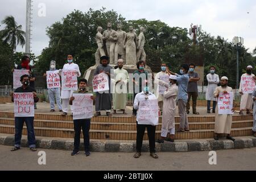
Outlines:
{"type": "Polygon", "coordinates": [[[137,61],[142,60],[146,61],[146,53],[144,51],[144,45],[145,45],[145,36],[144,36],[144,27],[140,27],[139,30],[141,33],[138,36],[138,47],[137,47],[137,61]]]}

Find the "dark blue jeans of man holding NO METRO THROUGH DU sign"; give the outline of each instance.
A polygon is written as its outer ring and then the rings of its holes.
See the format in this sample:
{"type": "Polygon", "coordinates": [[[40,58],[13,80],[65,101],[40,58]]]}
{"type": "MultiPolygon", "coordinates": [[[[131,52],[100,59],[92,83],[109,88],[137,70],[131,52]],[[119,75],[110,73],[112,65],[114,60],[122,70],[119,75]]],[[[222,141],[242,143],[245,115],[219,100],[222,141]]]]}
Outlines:
{"type": "Polygon", "coordinates": [[[24,122],[27,126],[27,140],[30,148],[36,147],[34,117],[15,117],[15,147],[20,147],[24,122]]]}

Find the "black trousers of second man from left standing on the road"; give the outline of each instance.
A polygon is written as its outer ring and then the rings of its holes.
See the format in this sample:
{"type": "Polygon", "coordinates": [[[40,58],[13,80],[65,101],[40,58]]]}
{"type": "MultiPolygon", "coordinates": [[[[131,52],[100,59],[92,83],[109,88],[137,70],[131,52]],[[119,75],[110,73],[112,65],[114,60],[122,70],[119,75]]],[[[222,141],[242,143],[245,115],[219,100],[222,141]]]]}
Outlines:
{"type": "Polygon", "coordinates": [[[75,130],[74,151],[79,151],[81,129],[82,129],[82,135],[84,135],[84,149],[85,151],[89,151],[90,119],[77,119],[77,120],[74,120],[73,122],[74,122],[74,130],[75,130]]]}

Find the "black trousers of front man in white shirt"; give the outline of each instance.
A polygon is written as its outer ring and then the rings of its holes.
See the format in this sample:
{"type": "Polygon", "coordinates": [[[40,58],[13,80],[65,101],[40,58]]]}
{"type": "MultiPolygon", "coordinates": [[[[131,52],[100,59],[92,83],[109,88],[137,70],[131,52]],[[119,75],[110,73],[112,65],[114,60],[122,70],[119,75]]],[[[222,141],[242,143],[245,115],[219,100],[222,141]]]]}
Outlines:
{"type": "Polygon", "coordinates": [[[136,150],[141,152],[142,142],[145,130],[147,128],[147,136],[150,144],[150,153],[155,153],[155,129],[156,126],[152,125],[138,125],[137,122],[137,139],[136,139],[136,150]]]}

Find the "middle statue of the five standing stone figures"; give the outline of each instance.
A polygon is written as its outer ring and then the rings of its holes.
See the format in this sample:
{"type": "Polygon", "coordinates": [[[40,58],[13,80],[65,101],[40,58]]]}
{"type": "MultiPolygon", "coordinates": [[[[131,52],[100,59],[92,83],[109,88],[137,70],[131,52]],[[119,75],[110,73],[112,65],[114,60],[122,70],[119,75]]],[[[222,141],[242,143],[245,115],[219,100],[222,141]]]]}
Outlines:
{"type": "Polygon", "coordinates": [[[119,59],[125,61],[125,49],[123,48],[123,40],[125,39],[126,32],[122,29],[122,24],[117,23],[117,42],[115,43],[115,64],[119,59]]]}

